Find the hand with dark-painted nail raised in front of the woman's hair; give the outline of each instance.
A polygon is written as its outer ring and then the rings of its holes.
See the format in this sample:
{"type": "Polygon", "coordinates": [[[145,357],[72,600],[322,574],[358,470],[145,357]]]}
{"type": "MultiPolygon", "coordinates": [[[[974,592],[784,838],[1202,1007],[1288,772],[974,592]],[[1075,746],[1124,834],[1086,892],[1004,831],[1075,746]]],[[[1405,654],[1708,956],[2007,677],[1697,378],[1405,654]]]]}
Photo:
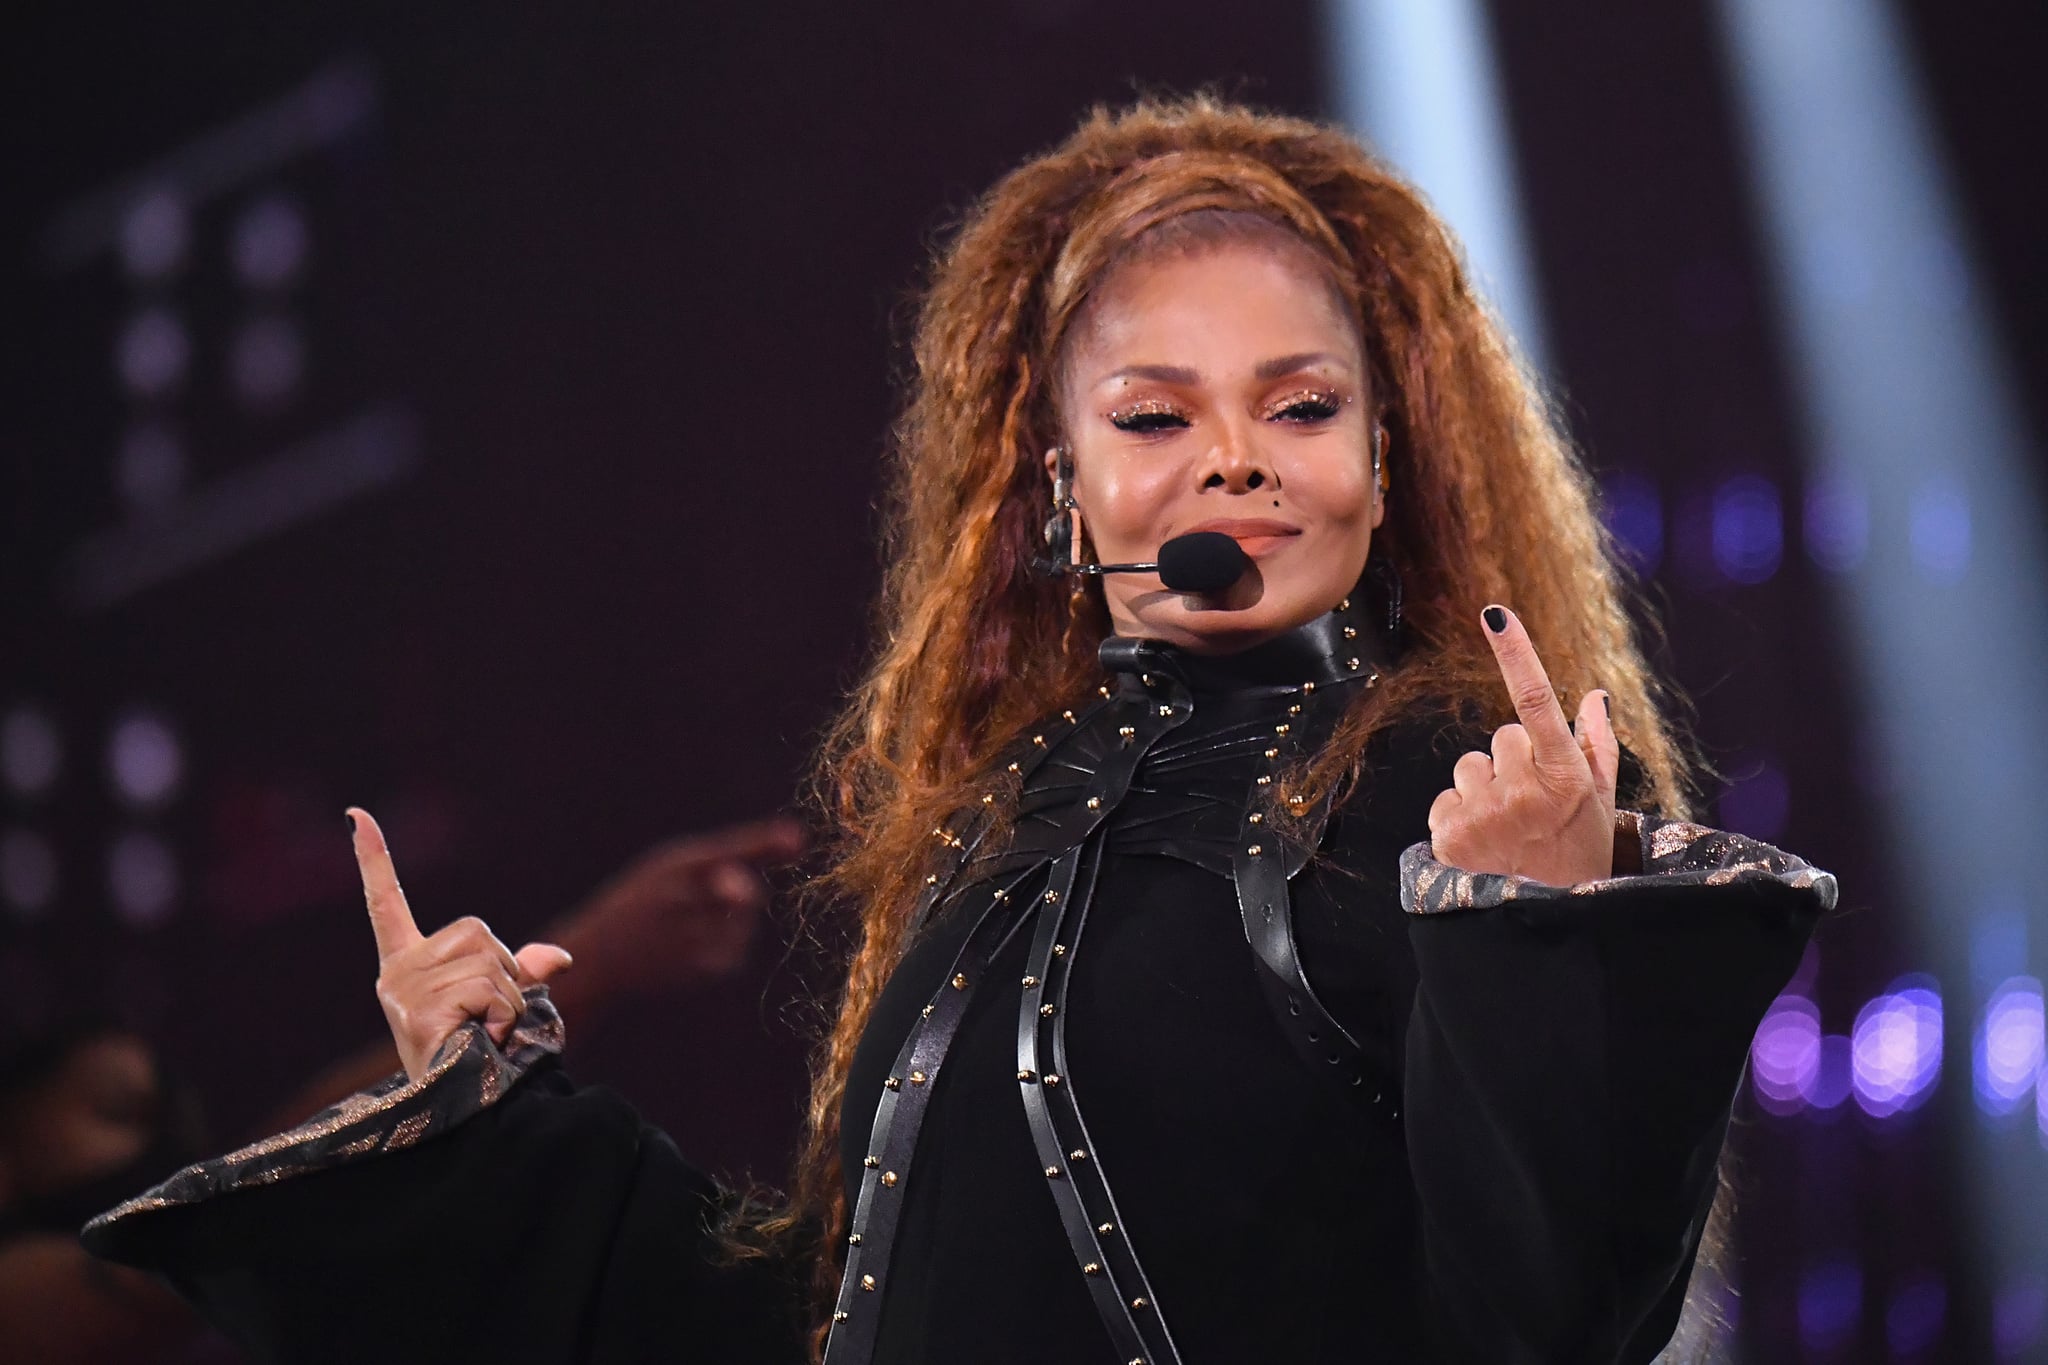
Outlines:
{"type": "Polygon", "coordinates": [[[1485,616],[1487,643],[1522,722],[1493,731],[1491,755],[1475,749],[1458,759],[1454,786],[1430,806],[1430,851],[1466,872],[1503,872],[1552,886],[1612,876],[1620,741],[1608,718],[1608,694],[1587,692],[1579,700],[1573,733],[1522,620],[1497,606],[1485,616]]]}

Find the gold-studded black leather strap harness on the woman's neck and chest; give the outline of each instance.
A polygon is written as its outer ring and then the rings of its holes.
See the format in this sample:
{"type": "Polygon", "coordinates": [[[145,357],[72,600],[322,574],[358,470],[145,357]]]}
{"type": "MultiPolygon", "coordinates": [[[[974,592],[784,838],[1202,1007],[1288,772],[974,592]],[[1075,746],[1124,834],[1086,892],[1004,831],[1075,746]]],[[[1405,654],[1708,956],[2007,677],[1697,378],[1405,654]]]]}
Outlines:
{"type": "MultiPolygon", "coordinates": [[[[1378,636],[1352,612],[1350,602],[1260,647],[1257,667],[1272,681],[1239,690],[1239,696],[1249,694],[1253,700],[1251,716],[1210,741],[1251,745],[1255,751],[1235,843],[1227,851],[1182,845],[1171,851],[1227,870],[1233,878],[1253,970],[1278,1027],[1305,1062],[1333,1085],[1346,1087],[1370,1111],[1395,1121],[1395,1087],[1384,1074],[1376,1074],[1358,1040],[1317,999],[1294,948],[1288,880],[1307,866],[1321,841],[1327,802],[1294,812],[1300,817],[1292,823],[1298,831],[1294,837],[1282,837],[1272,821],[1284,800],[1276,784],[1288,767],[1329,737],[1358,688],[1378,681],[1378,636]]],[[[872,1361],[903,1191],[913,1177],[918,1136],[946,1050],[989,964],[1024,931],[1030,933],[1030,948],[1016,1029],[1018,1093],[1067,1244],[1120,1359],[1130,1365],[1180,1361],[1165,1314],[1124,1232],[1108,1175],[1087,1136],[1081,1115],[1085,1076],[1077,1083],[1067,1070],[1065,1005],[1106,853],[1110,817],[1130,796],[1149,757],[1155,767],[1165,765],[1161,753],[1196,706],[1188,673],[1202,663],[1159,643],[1133,639],[1106,641],[1100,657],[1118,686],[1102,688],[1100,698],[1079,712],[1065,710],[1034,729],[1008,755],[1006,765],[1022,790],[1008,841],[999,849],[983,849],[991,843],[991,821],[979,819],[979,810],[973,821],[954,817],[934,831],[944,849],[944,866],[926,878],[911,933],[940,907],[948,913],[973,913],[961,905],[969,888],[987,886],[987,905],[979,909],[944,982],[903,1040],[874,1105],[850,1220],[846,1271],[825,1345],[827,1365],[872,1361]],[[1036,888],[1040,876],[1042,888],[1036,888]],[[1026,886],[1034,890],[1026,894],[1026,886]]]]}

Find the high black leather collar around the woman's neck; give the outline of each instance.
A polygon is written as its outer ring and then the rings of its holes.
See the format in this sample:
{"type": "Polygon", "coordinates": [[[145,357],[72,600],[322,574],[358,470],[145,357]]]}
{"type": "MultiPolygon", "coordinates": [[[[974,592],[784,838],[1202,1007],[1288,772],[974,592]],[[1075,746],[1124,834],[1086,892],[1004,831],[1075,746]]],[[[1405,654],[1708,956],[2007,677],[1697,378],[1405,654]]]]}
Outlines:
{"type": "Polygon", "coordinates": [[[1165,641],[1112,634],[1096,651],[1126,688],[1151,692],[1169,677],[1194,694],[1264,692],[1368,677],[1389,663],[1382,630],[1352,593],[1337,610],[1233,655],[1196,655],[1165,641]]]}

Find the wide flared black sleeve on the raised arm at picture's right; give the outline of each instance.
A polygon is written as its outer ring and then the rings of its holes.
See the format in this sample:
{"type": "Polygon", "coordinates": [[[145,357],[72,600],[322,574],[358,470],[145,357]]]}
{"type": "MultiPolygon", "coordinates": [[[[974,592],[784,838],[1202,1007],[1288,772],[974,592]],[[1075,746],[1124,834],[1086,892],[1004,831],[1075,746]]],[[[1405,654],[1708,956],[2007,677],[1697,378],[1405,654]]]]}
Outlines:
{"type": "Polygon", "coordinates": [[[1669,1340],[1749,1042],[1835,878],[1634,810],[1577,886],[1401,855],[1403,1121],[1448,1361],[1649,1361],[1669,1340]],[[1618,868],[1628,868],[1618,860],[1618,868]]]}

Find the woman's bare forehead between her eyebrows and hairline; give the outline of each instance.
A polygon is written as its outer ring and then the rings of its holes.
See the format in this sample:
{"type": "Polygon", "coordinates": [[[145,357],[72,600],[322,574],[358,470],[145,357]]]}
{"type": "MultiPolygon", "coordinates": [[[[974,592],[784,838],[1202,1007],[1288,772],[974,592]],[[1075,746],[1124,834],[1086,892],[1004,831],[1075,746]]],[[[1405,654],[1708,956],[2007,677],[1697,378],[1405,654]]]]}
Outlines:
{"type": "Polygon", "coordinates": [[[1069,383],[1087,383],[1090,370],[1133,358],[1204,356],[1210,364],[1198,368],[1206,375],[1305,350],[1362,362],[1358,323],[1329,268],[1309,246],[1274,231],[1112,266],[1067,334],[1061,370],[1069,383]]]}

